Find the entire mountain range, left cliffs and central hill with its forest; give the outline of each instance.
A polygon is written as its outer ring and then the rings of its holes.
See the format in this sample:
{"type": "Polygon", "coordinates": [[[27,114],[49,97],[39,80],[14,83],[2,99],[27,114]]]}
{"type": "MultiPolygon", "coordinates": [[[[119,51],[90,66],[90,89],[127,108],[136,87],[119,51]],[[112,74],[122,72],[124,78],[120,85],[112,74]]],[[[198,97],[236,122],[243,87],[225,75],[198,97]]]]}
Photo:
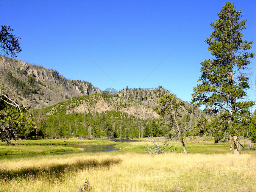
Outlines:
{"type": "MultiPolygon", "coordinates": [[[[1,90],[34,109],[40,138],[138,138],[166,135],[171,129],[152,109],[160,97],[172,94],[161,86],[102,92],[89,82],[68,80],[53,69],[5,56],[0,56],[0,81],[1,90]]],[[[182,126],[190,129],[202,117],[201,110],[188,102],[181,114],[182,126]]]]}

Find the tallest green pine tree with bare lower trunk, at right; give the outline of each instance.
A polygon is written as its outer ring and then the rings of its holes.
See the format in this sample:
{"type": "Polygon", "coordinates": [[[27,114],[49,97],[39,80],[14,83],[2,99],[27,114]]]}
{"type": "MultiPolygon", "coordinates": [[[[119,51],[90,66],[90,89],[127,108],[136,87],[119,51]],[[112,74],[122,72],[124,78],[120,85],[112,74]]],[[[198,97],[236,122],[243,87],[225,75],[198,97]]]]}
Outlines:
{"type": "MultiPolygon", "coordinates": [[[[235,10],[234,4],[227,2],[217,21],[211,23],[214,31],[206,43],[215,58],[201,62],[199,81],[202,83],[194,88],[192,95],[195,107],[204,105],[206,112],[221,114],[222,123],[229,125],[234,141],[237,141],[238,124],[250,115],[249,107],[254,105],[243,100],[249,89],[247,74],[254,54],[248,52],[253,42],[242,40],[246,21],[239,22],[241,17],[241,10],[235,10]]],[[[239,154],[236,142],[234,149],[239,154]]]]}

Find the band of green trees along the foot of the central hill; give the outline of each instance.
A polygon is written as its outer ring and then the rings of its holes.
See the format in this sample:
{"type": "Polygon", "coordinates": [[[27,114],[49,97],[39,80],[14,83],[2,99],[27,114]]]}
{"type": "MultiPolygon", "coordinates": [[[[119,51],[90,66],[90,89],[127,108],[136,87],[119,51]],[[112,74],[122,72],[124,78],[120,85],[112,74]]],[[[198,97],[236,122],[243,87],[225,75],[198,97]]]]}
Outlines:
{"type": "Polygon", "coordinates": [[[139,138],[143,137],[145,127],[149,130],[147,135],[160,134],[159,127],[151,132],[150,125],[156,122],[155,119],[143,120],[120,111],[41,115],[43,114],[40,110],[34,110],[38,125],[37,135],[41,138],[62,138],[64,136],[139,138]]]}

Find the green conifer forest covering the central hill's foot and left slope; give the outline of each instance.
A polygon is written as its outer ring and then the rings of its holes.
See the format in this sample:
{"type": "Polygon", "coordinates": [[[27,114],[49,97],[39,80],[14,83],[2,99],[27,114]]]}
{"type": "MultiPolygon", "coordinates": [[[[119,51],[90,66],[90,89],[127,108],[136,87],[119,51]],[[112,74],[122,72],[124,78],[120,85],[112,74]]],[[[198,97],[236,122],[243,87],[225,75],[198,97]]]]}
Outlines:
{"type": "MultiPolygon", "coordinates": [[[[97,95],[95,95],[97,97],[97,95]]],[[[112,95],[104,95],[110,99],[112,95]]],[[[81,102],[95,104],[96,100],[90,96],[72,98],[68,102],[72,107],[79,106],[81,102]],[[81,100],[83,99],[83,101],[81,100]]],[[[68,102],[61,102],[43,109],[34,109],[33,116],[38,126],[37,135],[40,138],[63,137],[108,137],[108,138],[142,138],[150,135],[167,135],[172,127],[166,126],[158,118],[141,119],[117,110],[102,113],[88,111],[84,113],[66,114],[68,102]]],[[[185,115],[180,123],[189,127],[190,115],[185,115]]],[[[191,129],[189,129],[191,130],[191,129]]]]}

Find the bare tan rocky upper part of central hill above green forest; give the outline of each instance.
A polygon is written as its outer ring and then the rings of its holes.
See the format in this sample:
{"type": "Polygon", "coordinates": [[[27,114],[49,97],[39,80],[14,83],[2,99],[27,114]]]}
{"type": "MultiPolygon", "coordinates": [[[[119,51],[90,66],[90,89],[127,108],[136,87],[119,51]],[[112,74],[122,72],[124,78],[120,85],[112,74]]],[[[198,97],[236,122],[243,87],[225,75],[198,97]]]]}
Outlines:
{"type": "MultiPolygon", "coordinates": [[[[170,94],[164,88],[155,90],[148,89],[124,89],[118,93],[93,94],[88,96],[74,97],[66,102],[58,103],[48,107],[46,114],[73,114],[73,113],[103,113],[106,111],[119,111],[134,115],[135,118],[159,118],[153,111],[158,99],[164,94],[170,94]]],[[[176,97],[177,100],[180,100],[176,97]]],[[[202,111],[194,110],[193,106],[185,103],[185,109],[182,112],[182,118],[189,116],[190,125],[194,125],[201,116],[202,111]],[[194,122],[194,123],[193,123],[194,122]]],[[[188,117],[187,117],[188,118],[188,117]]]]}

